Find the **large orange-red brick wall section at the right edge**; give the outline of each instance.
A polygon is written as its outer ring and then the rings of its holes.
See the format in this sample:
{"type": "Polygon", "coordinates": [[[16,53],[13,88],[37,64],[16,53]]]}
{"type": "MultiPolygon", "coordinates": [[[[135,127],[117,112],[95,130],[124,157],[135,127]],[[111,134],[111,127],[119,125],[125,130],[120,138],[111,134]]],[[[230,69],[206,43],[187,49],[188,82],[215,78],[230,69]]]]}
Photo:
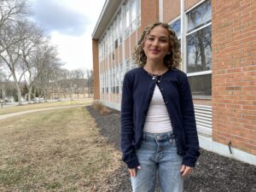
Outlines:
{"type": "Polygon", "coordinates": [[[256,1],[212,0],[212,138],[256,154],[256,1]]]}

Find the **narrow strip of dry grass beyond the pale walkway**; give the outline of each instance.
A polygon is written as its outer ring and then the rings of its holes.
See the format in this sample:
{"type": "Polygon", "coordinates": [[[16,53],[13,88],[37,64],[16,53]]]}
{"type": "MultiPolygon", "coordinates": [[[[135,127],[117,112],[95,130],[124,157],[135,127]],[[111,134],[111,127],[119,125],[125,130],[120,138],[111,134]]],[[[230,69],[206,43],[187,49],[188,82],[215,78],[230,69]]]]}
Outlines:
{"type": "Polygon", "coordinates": [[[84,105],[84,104],[90,104],[91,102],[92,102],[91,98],[86,98],[82,100],[73,100],[73,101],[32,103],[32,104],[21,105],[21,106],[0,108],[0,114],[15,113],[15,112],[33,110],[38,108],[55,108],[55,107],[64,107],[64,106],[71,106],[71,105],[84,105]]]}

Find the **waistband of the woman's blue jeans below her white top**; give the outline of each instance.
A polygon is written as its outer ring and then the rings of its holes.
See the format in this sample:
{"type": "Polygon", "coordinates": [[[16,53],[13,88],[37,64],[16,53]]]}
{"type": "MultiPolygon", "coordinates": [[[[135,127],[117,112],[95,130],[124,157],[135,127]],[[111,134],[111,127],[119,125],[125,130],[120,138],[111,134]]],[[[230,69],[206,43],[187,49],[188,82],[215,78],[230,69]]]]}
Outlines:
{"type": "Polygon", "coordinates": [[[143,141],[151,141],[151,142],[162,142],[173,139],[174,135],[172,131],[163,132],[163,133],[150,133],[143,131],[143,141]]]}

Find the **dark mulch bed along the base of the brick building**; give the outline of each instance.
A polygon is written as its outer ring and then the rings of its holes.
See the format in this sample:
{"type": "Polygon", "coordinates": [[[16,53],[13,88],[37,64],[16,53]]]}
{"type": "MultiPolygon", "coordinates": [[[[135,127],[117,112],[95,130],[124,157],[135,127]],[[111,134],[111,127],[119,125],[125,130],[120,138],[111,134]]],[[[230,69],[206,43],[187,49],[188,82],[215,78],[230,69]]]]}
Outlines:
{"type": "MultiPolygon", "coordinates": [[[[101,115],[86,107],[96,119],[103,137],[119,149],[119,111],[101,115]]],[[[108,192],[130,192],[131,183],[125,164],[108,178],[108,192]]],[[[159,191],[159,187],[157,187],[159,191]]],[[[197,166],[184,180],[184,192],[256,192],[256,166],[201,149],[197,166]]]]}

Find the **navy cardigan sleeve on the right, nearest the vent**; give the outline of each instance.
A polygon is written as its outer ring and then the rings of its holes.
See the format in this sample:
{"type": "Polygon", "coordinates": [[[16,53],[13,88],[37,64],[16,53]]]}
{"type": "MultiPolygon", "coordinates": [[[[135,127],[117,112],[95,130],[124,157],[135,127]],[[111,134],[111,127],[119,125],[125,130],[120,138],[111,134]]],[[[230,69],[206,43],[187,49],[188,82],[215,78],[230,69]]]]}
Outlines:
{"type": "Polygon", "coordinates": [[[187,75],[183,73],[180,81],[180,100],[183,115],[183,130],[185,137],[185,150],[183,165],[194,167],[195,161],[200,155],[199,141],[195,125],[195,110],[187,75]]]}

